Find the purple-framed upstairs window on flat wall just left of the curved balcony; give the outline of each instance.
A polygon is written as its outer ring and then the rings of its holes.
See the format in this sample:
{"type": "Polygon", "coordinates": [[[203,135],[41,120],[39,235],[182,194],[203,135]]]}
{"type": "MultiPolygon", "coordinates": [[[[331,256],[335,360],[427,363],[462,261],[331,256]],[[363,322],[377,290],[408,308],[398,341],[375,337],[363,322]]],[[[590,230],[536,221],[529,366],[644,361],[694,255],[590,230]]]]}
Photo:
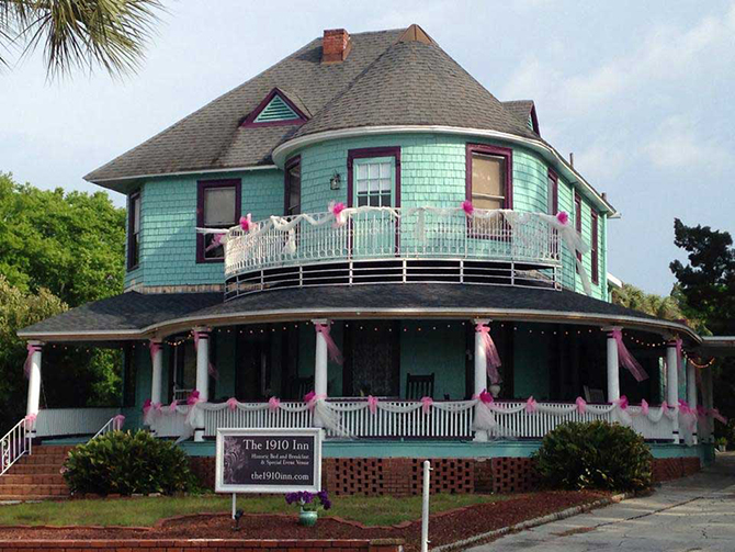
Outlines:
{"type": "MultiPolygon", "coordinates": [[[[205,180],[196,193],[196,226],[230,228],[240,218],[240,181],[205,180]]],[[[212,247],[214,234],[197,234],[196,262],[218,262],[225,257],[222,246],[212,247]]]]}

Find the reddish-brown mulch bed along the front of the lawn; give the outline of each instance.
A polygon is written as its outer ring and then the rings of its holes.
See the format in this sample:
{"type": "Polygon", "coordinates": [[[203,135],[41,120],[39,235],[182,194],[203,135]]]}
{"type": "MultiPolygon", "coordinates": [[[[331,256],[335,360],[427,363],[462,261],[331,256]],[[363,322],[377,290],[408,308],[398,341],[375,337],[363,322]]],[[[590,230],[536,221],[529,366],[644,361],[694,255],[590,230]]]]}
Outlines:
{"type": "MultiPolygon", "coordinates": [[[[528,519],[589,504],[609,496],[591,492],[542,492],[513,495],[506,500],[467,506],[431,516],[429,539],[440,547],[528,519]]],[[[79,539],[404,539],[407,551],[420,550],[421,521],[389,527],[365,527],[340,518],[320,518],[314,528],[297,525],[297,516],[248,515],[233,531],[228,514],[201,514],[159,521],[154,527],[2,527],[0,540],[79,539]]]]}

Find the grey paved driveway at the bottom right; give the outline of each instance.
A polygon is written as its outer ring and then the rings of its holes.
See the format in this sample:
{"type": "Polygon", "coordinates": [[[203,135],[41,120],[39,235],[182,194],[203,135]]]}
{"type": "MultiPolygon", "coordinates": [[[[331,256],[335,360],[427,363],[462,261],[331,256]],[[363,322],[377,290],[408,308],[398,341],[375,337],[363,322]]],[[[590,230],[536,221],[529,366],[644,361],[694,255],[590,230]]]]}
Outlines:
{"type": "Polygon", "coordinates": [[[735,453],[714,466],[634,498],[510,534],[474,552],[733,552],[735,453]]]}

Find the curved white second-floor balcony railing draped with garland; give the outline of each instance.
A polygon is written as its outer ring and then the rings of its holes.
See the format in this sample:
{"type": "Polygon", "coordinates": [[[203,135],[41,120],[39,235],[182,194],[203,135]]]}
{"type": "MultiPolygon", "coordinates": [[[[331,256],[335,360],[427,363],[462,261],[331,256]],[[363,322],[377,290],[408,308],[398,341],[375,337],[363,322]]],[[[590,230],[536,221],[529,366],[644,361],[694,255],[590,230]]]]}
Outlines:
{"type": "Polygon", "coordinates": [[[414,282],[559,289],[564,230],[552,215],[507,210],[357,207],[271,216],[229,230],[225,293],[414,282]]]}

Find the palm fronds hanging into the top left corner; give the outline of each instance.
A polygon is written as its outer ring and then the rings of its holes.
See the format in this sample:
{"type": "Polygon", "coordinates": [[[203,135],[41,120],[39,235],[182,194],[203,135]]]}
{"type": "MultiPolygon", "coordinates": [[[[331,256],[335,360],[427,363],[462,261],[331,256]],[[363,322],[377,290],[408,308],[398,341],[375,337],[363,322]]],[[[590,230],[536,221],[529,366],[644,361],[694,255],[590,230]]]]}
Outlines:
{"type": "Polygon", "coordinates": [[[120,76],[138,68],[160,10],[160,0],[0,0],[0,63],[43,45],[49,78],[97,67],[120,76]]]}

